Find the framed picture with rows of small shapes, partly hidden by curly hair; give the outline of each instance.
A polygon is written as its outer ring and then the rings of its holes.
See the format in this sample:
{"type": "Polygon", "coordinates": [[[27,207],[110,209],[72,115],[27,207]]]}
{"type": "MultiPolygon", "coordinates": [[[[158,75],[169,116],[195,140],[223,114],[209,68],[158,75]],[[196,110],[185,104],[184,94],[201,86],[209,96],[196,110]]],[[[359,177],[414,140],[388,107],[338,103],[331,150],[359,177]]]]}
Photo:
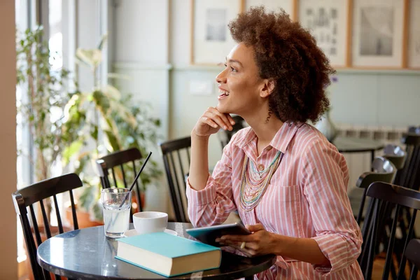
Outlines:
{"type": "Polygon", "coordinates": [[[297,17],[332,66],[348,66],[350,0],[300,0],[297,17]]]}

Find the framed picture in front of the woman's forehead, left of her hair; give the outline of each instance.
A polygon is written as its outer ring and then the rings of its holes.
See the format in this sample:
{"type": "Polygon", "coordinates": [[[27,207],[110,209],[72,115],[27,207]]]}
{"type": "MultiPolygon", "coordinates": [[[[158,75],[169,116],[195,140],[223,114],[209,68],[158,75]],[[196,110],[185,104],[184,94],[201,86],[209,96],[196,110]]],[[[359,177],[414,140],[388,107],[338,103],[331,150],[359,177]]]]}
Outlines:
{"type": "Polygon", "coordinates": [[[216,65],[235,45],[228,23],[244,10],[244,0],[191,0],[191,64],[216,65]]]}

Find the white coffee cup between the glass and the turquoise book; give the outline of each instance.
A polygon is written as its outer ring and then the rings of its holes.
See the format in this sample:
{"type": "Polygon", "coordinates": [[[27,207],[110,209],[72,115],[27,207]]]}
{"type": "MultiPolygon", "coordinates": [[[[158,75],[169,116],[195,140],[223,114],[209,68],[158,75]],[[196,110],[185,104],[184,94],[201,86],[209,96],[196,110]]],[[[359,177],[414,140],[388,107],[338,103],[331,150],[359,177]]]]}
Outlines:
{"type": "Polygon", "coordinates": [[[168,214],[156,211],[138,212],[133,214],[133,223],[139,235],[163,232],[168,225],[168,214]]]}

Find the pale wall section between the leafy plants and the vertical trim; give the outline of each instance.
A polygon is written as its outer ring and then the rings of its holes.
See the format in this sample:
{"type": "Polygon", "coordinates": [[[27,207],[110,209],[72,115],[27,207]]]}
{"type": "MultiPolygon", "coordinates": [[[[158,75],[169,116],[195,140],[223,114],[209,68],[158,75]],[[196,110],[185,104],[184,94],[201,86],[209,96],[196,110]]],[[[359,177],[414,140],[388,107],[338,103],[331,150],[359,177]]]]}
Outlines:
{"type": "MultiPolygon", "coordinates": [[[[121,80],[122,92],[130,92],[135,100],[153,106],[152,114],[160,118],[159,133],[162,140],[169,132],[169,0],[116,1],[113,18],[115,42],[113,69],[130,76],[121,80]]],[[[160,163],[159,149],[153,150],[151,159],[160,163]]],[[[146,209],[169,212],[166,177],[155,187],[148,188],[146,209]]]]}

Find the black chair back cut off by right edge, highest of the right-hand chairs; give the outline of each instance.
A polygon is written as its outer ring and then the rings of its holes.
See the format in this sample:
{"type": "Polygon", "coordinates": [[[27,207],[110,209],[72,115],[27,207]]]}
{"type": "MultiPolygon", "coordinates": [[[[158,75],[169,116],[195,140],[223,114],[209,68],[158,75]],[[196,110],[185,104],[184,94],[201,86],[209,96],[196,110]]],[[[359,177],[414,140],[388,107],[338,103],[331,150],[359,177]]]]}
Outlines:
{"type": "Polygon", "coordinates": [[[404,134],[406,160],[404,167],[395,176],[395,184],[419,190],[420,187],[420,131],[404,134]]]}

